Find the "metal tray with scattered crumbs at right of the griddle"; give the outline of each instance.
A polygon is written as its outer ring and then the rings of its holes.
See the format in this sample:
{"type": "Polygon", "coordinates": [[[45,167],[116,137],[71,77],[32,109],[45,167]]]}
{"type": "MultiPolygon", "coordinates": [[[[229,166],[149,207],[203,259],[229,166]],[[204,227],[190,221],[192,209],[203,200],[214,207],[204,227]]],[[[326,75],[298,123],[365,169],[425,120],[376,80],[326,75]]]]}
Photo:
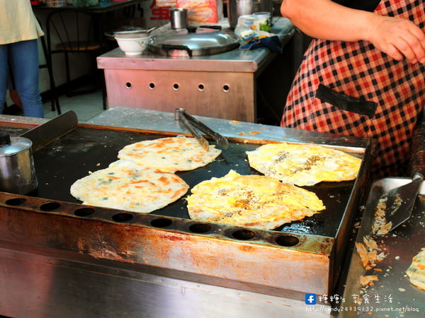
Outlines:
{"type": "MultiPolygon", "coordinates": [[[[356,242],[363,242],[363,237],[370,235],[379,199],[391,189],[411,181],[408,178],[385,178],[373,184],[356,242]]],[[[425,291],[409,282],[406,270],[412,258],[425,247],[425,182],[421,184],[412,217],[392,232],[375,237],[375,240],[382,252],[387,254],[385,259],[377,262],[376,268],[382,271],[365,271],[358,253],[356,250],[353,252],[344,290],[346,302],[341,304],[344,311],[339,316],[424,317],[425,291]],[[378,281],[362,288],[359,277],[364,275],[377,275],[378,281]],[[363,301],[358,305],[353,295],[368,298],[369,303],[363,301]]]]}

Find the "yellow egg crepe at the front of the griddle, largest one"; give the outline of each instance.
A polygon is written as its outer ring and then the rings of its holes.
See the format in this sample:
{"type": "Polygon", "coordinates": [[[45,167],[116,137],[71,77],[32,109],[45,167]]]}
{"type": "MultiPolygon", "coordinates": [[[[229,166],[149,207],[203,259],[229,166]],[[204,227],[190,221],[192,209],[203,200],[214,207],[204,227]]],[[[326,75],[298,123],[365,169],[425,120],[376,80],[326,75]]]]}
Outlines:
{"type": "Polygon", "coordinates": [[[324,210],[322,201],[300,187],[262,175],[230,170],[197,184],[188,196],[193,220],[272,230],[324,210]]]}

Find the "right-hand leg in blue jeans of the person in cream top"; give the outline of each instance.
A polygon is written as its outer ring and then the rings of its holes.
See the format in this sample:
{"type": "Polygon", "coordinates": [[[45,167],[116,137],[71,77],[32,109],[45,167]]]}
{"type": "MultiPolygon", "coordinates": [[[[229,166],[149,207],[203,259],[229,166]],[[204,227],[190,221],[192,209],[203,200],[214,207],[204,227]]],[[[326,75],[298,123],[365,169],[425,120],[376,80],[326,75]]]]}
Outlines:
{"type": "Polygon", "coordinates": [[[21,98],[23,114],[44,117],[44,109],[38,87],[38,42],[21,41],[9,45],[9,60],[16,90],[21,98]]]}

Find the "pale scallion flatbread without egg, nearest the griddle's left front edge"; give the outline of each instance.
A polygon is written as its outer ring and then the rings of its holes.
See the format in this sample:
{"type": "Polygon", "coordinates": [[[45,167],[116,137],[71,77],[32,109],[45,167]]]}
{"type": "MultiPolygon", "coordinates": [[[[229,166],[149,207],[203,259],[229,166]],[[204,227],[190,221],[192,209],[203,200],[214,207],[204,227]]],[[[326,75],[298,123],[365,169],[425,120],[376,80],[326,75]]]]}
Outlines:
{"type": "Polygon", "coordinates": [[[71,194],[83,204],[149,213],[186,194],[188,184],[171,172],[119,160],[78,179],[71,194]]]}

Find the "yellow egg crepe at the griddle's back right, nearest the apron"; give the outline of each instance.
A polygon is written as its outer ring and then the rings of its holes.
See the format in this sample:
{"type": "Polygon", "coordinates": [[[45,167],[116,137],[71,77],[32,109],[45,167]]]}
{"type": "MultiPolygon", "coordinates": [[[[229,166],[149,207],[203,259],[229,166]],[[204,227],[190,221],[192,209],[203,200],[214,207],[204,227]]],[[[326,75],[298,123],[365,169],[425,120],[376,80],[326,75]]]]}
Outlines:
{"type": "Polygon", "coordinates": [[[361,165],[360,158],[318,145],[268,143],[246,154],[255,170],[300,187],[356,179],[361,165]]]}

